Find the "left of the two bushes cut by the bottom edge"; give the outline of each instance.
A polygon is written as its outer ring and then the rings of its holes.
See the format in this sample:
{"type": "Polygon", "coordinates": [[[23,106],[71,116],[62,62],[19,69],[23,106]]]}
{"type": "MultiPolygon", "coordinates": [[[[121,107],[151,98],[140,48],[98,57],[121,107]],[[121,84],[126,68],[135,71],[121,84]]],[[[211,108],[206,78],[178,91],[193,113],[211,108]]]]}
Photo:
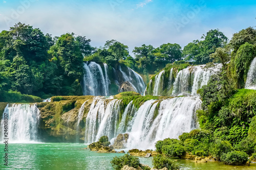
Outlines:
{"type": "Polygon", "coordinates": [[[114,157],[111,161],[111,164],[116,170],[120,170],[124,165],[132,166],[134,168],[141,166],[139,158],[136,158],[130,154],[124,154],[120,157],[114,157]]]}

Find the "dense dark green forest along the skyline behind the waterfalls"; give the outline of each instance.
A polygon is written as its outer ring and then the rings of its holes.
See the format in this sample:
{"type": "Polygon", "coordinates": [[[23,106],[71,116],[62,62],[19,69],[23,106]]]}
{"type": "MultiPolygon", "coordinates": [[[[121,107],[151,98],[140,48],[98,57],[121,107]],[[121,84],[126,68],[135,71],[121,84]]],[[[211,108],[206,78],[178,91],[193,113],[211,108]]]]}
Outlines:
{"type": "MultiPolygon", "coordinates": [[[[219,47],[231,46],[234,49],[232,55],[242,55],[240,45],[253,44],[253,34],[255,30],[252,28],[242,30],[238,35],[234,34],[227,45],[227,37],[222,32],[210,30],[201,40],[188,43],[183,50],[177,43],[156,48],[142,44],[134,48],[135,57],[132,57],[128,46],[116,40],[108,40],[103,47],[97,48],[91,46],[91,40],[86,37],[74,33],[52,37],[19,22],[9,31],[0,33],[0,100],[8,101],[10,96],[18,96],[18,93],[44,99],[53,95],[82,95],[80,82],[86,61],[104,62],[114,68],[124,64],[144,76],[178,61],[192,64],[222,62],[218,57],[211,58],[210,54],[219,47]]],[[[224,53],[229,53],[227,48],[223,49],[224,53]]],[[[246,72],[241,71],[239,78],[246,72]]],[[[242,87],[243,83],[238,86],[242,87]]]]}

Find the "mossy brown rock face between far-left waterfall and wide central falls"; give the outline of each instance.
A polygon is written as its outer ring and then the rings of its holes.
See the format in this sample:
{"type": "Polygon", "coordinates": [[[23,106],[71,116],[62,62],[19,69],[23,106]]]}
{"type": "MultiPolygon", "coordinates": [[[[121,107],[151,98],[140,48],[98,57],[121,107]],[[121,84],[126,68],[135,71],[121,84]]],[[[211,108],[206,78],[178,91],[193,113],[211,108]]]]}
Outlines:
{"type": "Polygon", "coordinates": [[[51,102],[37,103],[39,133],[46,142],[84,142],[84,124],[94,96],[54,96],[51,102]],[[77,131],[77,116],[86,102],[77,131]]]}

